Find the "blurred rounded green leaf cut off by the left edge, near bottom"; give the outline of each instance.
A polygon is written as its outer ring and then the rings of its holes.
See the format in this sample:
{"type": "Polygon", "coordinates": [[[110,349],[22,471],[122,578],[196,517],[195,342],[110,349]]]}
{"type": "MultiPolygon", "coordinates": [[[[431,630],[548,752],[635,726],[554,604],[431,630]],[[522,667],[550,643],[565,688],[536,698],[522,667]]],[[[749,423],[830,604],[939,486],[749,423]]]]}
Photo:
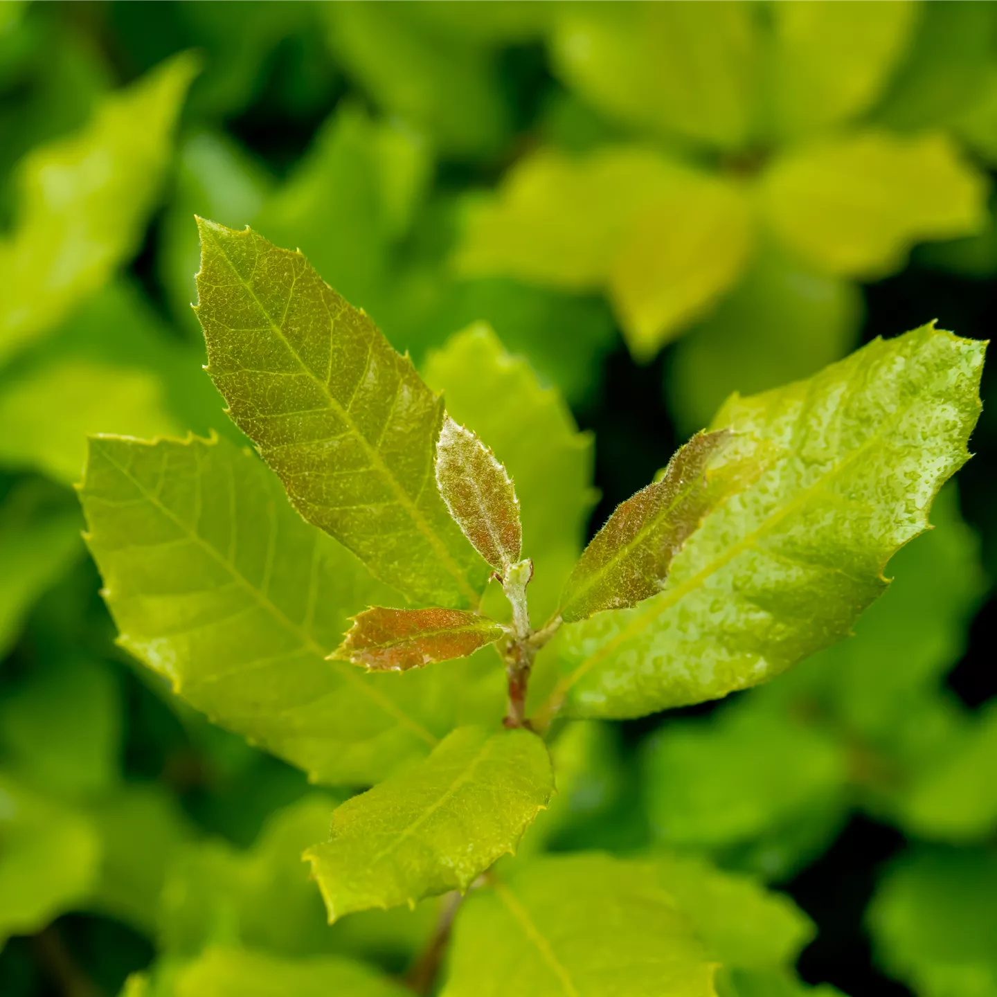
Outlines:
{"type": "Polygon", "coordinates": [[[0,945],[34,934],[91,889],[101,842],[78,812],[0,774],[0,945]]]}

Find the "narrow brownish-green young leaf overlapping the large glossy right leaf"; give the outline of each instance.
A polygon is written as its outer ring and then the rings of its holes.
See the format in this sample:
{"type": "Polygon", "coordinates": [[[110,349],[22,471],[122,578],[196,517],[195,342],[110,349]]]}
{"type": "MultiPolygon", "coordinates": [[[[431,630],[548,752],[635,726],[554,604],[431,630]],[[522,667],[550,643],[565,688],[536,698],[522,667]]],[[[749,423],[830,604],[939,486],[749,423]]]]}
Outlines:
{"type": "Polygon", "coordinates": [[[565,622],[633,606],[661,591],[672,558],[724,498],[722,488],[711,487],[706,468],[730,439],[725,430],[697,433],[660,481],[616,506],[567,580],[560,608],[565,622]]]}

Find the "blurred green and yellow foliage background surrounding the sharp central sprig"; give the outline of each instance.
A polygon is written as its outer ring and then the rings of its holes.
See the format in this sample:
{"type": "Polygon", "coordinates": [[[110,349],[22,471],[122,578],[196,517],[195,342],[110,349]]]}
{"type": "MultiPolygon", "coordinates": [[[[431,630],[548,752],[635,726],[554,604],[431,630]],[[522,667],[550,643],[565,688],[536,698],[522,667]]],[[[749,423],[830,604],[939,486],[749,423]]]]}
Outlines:
{"type": "MultiPolygon", "coordinates": [[[[342,794],[113,642],[86,434],[237,439],[194,213],[300,246],[418,363],[491,322],[594,434],[594,532],[731,391],[934,319],[987,338],[995,166],[992,0],[0,0],[0,993],[114,994],[233,933],[401,969],[426,930],[330,936],[295,863],[342,794]]],[[[589,728],[555,846],[788,891],[810,983],[997,995],[995,388],[857,636],[589,728]]]]}

